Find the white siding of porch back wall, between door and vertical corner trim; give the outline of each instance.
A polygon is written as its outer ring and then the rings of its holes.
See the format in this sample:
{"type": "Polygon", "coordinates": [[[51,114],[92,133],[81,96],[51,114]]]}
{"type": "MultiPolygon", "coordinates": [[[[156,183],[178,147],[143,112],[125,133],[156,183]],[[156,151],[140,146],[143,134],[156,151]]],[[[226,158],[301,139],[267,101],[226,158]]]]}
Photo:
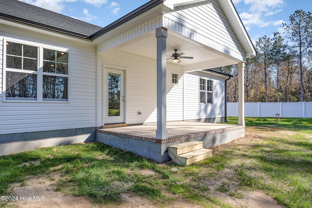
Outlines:
{"type": "MultiPolygon", "coordinates": [[[[142,124],[156,122],[156,60],[110,52],[101,56],[101,62],[110,68],[126,68],[126,123],[142,124]],[[123,61],[120,62],[120,58],[123,61]],[[141,114],[137,114],[137,112],[141,114]]],[[[167,64],[167,121],[183,120],[182,68],[167,64]],[[172,83],[172,73],[178,74],[179,83],[172,83]]],[[[105,93],[104,89],[104,93],[105,93]]],[[[105,123],[105,118],[104,118],[105,123]]]]}

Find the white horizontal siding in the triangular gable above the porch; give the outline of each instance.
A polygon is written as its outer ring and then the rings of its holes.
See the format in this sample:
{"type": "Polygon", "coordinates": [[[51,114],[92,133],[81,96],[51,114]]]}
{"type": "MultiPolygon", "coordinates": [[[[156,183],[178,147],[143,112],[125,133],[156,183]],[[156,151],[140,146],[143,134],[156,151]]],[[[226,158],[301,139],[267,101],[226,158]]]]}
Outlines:
{"type": "Polygon", "coordinates": [[[215,0],[175,8],[164,15],[164,26],[216,50],[242,59],[244,50],[215,0]]]}

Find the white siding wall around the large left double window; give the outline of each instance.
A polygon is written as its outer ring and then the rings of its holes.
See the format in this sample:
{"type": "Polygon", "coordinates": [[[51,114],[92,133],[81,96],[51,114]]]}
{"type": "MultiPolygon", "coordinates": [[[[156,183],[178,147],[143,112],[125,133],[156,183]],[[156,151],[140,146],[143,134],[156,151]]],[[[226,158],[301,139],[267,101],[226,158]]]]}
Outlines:
{"type": "MultiPolygon", "coordinates": [[[[42,47],[68,48],[69,85],[68,102],[2,102],[0,99],[0,134],[48,131],[59,129],[96,127],[96,48],[89,44],[59,38],[39,36],[32,32],[16,29],[15,34],[0,32],[3,40],[36,42],[42,47]],[[25,38],[32,37],[32,38],[25,38]]],[[[2,59],[2,56],[0,56],[2,59]]],[[[0,60],[2,64],[2,60],[0,60]]],[[[2,65],[0,77],[2,78],[2,65]]],[[[0,79],[1,82],[3,82],[0,79]]],[[[1,84],[2,85],[2,84],[1,84]]],[[[0,85],[0,86],[1,86],[0,85]]],[[[3,89],[1,89],[3,96],[3,89]]]]}

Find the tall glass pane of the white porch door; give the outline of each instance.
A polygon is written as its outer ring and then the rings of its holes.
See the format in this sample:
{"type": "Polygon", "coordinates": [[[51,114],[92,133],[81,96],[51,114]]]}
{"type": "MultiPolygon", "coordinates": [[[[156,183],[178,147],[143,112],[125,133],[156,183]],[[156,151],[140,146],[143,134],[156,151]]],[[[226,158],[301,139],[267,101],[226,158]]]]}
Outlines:
{"type": "Polygon", "coordinates": [[[120,115],[120,74],[108,74],[108,116],[120,115]]]}

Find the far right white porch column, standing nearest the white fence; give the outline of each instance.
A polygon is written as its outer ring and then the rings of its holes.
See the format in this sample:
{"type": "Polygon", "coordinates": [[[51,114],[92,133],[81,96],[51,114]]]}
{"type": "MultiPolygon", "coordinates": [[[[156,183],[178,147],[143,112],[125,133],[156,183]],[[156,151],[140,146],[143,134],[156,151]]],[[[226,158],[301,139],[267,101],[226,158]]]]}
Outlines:
{"type": "Polygon", "coordinates": [[[244,71],[245,63],[238,63],[238,125],[245,125],[244,112],[244,71]]]}

